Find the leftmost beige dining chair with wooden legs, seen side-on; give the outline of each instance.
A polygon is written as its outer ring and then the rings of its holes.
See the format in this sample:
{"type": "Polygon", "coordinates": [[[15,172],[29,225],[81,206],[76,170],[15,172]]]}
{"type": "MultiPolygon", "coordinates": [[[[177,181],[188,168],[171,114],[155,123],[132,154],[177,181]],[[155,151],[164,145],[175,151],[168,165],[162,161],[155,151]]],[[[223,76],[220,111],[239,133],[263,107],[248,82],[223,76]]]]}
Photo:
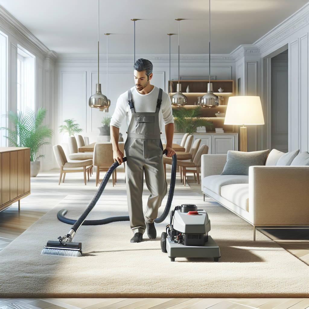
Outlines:
{"type": "Polygon", "coordinates": [[[62,183],[64,183],[66,173],[75,173],[75,172],[84,172],[84,182],[86,185],[87,183],[86,172],[88,173],[88,181],[89,181],[89,172],[92,169],[92,159],[76,160],[74,162],[68,162],[68,160],[66,159],[66,155],[60,145],[53,146],[53,151],[56,157],[56,161],[60,167],[60,177],[58,185],[60,185],[62,174],[64,174],[62,180],[62,183]]]}

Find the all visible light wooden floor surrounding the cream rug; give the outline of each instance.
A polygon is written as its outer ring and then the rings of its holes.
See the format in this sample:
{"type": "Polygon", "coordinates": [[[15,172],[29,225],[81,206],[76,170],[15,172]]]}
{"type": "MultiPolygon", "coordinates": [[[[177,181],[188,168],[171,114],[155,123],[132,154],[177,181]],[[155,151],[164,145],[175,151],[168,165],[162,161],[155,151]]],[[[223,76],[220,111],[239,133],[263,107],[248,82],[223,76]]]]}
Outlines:
{"type": "MultiPolygon", "coordinates": [[[[87,186],[82,173],[71,173],[68,182],[77,183],[58,186],[59,172],[44,172],[31,178],[31,195],[0,213],[0,251],[29,226],[47,213],[69,194],[94,195],[95,177],[87,186]]],[[[104,175],[102,175],[104,176],[104,175]]],[[[101,177],[102,177],[101,176],[101,177]]],[[[117,173],[119,181],[122,176],[117,173]]],[[[179,176],[178,176],[179,179],[179,176]]],[[[200,185],[188,177],[194,192],[201,194],[200,185]]],[[[202,194],[201,194],[202,196],[202,194]]],[[[309,246],[304,243],[280,243],[280,245],[308,264],[309,246]]],[[[167,286],[167,288],[170,288],[167,286]]],[[[0,309],[308,309],[309,298],[49,298],[49,299],[0,299],[0,309]]]]}

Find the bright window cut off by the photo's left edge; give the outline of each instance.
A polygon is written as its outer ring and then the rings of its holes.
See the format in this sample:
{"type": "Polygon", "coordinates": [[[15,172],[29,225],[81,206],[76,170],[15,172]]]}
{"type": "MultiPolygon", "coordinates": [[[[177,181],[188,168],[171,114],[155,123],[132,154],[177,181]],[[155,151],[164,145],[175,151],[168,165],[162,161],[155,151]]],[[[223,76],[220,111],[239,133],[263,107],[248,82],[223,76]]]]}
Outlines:
{"type": "MultiPolygon", "coordinates": [[[[1,115],[6,113],[6,39],[7,36],[0,32],[0,103],[1,103],[1,115]]],[[[0,116],[1,116],[0,115],[0,116]]],[[[6,118],[0,118],[1,127],[6,127],[6,118]]],[[[6,138],[3,136],[6,134],[5,130],[0,131],[1,147],[6,146],[6,138]]]]}

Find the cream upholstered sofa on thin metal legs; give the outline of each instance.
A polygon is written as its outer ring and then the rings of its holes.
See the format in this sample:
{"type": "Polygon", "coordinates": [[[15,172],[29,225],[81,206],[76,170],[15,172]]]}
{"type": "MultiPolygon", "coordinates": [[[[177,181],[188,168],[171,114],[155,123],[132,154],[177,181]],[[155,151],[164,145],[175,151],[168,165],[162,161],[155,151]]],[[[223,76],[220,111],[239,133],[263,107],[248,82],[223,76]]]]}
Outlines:
{"type": "Polygon", "coordinates": [[[309,225],[308,160],[304,166],[278,166],[284,153],[272,153],[265,165],[250,166],[248,175],[221,175],[227,155],[201,157],[204,201],[206,194],[252,224],[254,241],[256,227],[309,225]]]}

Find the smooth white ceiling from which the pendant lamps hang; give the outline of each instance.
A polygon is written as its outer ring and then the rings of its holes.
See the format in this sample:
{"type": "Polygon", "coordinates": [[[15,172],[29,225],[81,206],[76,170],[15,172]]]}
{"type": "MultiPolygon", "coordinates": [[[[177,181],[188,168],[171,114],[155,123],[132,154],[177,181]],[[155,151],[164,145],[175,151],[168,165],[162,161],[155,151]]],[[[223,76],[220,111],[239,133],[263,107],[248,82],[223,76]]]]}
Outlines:
{"type": "MultiPolygon", "coordinates": [[[[211,0],[211,53],[230,53],[252,44],[308,0],[211,0]]],[[[50,50],[61,53],[97,52],[98,0],[0,0],[0,5],[50,50]]],[[[178,33],[180,53],[208,53],[208,0],[100,0],[100,53],[166,54],[167,33],[178,33]]],[[[178,53],[178,36],[171,36],[171,53],[178,53]]]]}

